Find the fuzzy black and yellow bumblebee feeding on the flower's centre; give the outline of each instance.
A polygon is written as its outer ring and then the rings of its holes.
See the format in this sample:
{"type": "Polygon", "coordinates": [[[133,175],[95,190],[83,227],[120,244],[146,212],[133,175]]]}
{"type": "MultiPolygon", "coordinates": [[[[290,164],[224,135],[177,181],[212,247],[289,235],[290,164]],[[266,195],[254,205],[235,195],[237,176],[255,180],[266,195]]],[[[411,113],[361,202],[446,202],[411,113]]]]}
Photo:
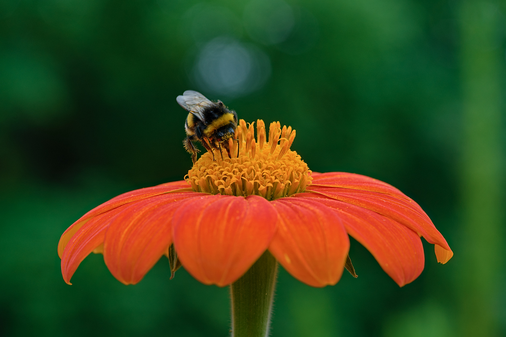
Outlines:
{"type": "Polygon", "coordinates": [[[200,152],[194,142],[200,142],[212,153],[213,160],[213,150],[219,150],[222,154],[222,147],[231,157],[228,141],[230,138],[233,139],[237,127],[235,111],[229,110],[222,101],[211,102],[194,90],[186,90],[176,98],[176,101],[189,112],[185,122],[187,137],[183,140],[183,145],[191,154],[193,164],[197,161],[197,153],[200,152]]]}

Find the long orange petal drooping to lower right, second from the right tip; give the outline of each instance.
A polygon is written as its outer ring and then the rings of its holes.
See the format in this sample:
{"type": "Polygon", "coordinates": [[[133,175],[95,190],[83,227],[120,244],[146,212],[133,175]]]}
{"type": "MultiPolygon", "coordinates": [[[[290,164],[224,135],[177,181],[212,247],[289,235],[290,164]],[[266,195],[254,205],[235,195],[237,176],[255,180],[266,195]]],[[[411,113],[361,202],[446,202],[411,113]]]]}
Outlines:
{"type": "Polygon", "coordinates": [[[339,212],[348,233],[374,256],[392,279],[403,286],[424,270],[425,256],[420,237],[413,230],[371,210],[315,194],[299,194],[339,212]]]}

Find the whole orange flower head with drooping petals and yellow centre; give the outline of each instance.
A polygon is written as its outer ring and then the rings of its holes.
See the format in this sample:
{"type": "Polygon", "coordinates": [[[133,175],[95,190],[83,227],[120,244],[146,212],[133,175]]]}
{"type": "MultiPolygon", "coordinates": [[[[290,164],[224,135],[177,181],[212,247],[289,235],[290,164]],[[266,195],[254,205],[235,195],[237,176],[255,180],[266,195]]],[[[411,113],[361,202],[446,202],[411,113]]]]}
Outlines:
{"type": "Polygon", "coordinates": [[[229,140],[234,158],[205,153],[186,181],[126,192],[74,222],[58,245],[65,282],[95,252],[114,277],[135,284],[172,244],[190,274],[219,286],[266,250],[306,284],[335,284],[348,234],[400,286],[424,269],[421,236],[435,245],[438,262],[453,256],[427,214],[397,188],[354,173],[312,172],[290,150],[295,130],[271,123],[267,138],[262,120],[256,128],[257,139],[254,123],[240,120],[238,141],[229,140]]]}

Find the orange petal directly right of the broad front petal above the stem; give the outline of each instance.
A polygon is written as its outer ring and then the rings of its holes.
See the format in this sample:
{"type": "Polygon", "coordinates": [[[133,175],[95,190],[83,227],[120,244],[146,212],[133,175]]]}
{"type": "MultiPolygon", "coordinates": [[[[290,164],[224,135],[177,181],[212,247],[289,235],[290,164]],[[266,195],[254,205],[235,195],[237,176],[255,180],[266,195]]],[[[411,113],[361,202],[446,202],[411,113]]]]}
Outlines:
{"type": "Polygon", "coordinates": [[[335,284],[343,274],[350,239],[337,212],[309,199],[281,198],[278,229],[269,251],[293,277],[312,286],[335,284]]]}

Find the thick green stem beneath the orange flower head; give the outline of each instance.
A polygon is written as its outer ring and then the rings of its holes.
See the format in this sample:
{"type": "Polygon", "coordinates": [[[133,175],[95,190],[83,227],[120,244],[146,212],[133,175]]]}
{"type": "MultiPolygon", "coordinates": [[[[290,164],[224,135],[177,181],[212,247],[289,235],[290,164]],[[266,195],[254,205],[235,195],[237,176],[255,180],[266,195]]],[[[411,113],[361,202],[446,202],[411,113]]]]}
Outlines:
{"type": "Polygon", "coordinates": [[[266,251],[230,286],[232,337],[269,335],[278,263],[266,251]]]}

